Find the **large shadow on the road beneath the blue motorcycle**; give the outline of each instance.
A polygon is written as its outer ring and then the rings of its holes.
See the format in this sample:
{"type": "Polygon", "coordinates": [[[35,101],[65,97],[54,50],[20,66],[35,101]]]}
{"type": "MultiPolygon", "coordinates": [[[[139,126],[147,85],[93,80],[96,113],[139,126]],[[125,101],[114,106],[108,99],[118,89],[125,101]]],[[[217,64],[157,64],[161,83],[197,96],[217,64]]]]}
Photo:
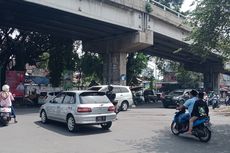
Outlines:
{"type": "Polygon", "coordinates": [[[202,143],[198,138],[187,134],[175,136],[169,129],[164,129],[156,137],[132,145],[140,152],[229,153],[230,125],[213,126],[212,138],[208,143],[202,143]]]}

